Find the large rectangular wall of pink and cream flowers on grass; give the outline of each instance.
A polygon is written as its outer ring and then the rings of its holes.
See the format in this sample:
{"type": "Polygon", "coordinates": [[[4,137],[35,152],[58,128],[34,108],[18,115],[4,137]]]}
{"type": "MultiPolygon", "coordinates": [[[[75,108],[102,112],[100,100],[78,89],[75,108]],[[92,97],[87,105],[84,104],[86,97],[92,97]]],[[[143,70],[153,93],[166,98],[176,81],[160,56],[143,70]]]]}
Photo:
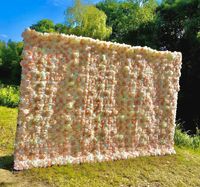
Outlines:
{"type": "Polygon", "coordinates": [[[14,169],[173,154],[181,53],[23,33],[14,169]]]}

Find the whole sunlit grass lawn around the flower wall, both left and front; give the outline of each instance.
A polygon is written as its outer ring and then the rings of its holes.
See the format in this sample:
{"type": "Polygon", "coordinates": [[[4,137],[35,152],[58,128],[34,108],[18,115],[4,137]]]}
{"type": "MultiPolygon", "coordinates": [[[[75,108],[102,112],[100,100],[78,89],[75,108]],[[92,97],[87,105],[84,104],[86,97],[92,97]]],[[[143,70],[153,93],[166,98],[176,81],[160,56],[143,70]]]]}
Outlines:
{"type": "Polygon", "coordinates": [[[176,155],[53,166],[13,172],[17,109],[0,107],[0,186],[200,187],[200,150],[176,155]]]}

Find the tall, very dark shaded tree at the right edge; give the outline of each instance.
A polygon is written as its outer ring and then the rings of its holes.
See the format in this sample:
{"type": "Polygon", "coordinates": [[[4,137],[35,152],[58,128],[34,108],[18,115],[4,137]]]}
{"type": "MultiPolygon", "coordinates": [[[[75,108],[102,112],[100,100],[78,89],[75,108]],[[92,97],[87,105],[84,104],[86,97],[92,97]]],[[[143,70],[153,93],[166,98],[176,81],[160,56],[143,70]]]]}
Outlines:
{"type": "Polygon", "coordinates": [[[166,0],[157,10],[158,45],[180,51],[183,56],[177,119],[185,130],[195,132],[200,124],[200,1],[166,0]]]}

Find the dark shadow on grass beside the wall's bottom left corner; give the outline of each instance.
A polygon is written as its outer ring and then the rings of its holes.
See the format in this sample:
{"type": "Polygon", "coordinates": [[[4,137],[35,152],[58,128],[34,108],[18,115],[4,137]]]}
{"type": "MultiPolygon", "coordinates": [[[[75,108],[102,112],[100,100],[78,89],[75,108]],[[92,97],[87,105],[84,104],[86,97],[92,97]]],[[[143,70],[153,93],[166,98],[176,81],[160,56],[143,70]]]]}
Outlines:
{"type": "Polygon", "coordinates": [[[0,156],[0,169],[13,171],[14,157],[13,155],[0,156]]]}

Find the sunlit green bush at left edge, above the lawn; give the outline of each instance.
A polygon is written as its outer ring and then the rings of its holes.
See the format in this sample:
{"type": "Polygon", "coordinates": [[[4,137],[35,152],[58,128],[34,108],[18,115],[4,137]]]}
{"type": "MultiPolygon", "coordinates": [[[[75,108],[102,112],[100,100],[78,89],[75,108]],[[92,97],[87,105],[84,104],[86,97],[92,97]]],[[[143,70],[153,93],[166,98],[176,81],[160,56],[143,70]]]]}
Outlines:
{"type": "Polygon", "coordinates": [[[17,107],[19,104],[19,87],[0,84],[0,105],[17,107]]]}

